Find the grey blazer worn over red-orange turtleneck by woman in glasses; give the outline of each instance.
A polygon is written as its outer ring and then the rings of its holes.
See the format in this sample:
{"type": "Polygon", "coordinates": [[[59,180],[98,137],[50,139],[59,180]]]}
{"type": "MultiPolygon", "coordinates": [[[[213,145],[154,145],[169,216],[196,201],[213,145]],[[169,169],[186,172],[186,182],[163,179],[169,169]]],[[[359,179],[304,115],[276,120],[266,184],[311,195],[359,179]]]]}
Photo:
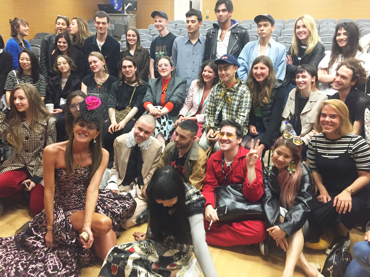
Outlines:
{"type": "MultiPolygon", "coordinates": [[[[142,103],[149,101],[153,106],[161,106],[162,79],[149,79],[148,90],[142,103]]],[[[168,113],[169,118],[175,122],[185,101],[186,79],[179,76],[171,76],[165,96],[165,103],[171,102],[174,108],[168,113]]]]}

